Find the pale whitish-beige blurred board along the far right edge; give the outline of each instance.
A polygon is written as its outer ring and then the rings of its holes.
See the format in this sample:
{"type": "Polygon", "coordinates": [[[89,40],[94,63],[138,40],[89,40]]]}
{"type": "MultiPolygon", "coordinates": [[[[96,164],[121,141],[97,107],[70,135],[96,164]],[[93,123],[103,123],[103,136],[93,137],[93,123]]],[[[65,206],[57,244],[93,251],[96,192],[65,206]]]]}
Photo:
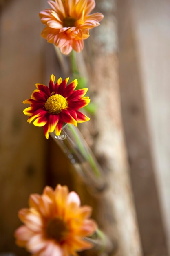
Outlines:
{"type": "Polygon", "coordinates": [[[170,255],[170,1],[131,1],[161,216],[170,255]]]}

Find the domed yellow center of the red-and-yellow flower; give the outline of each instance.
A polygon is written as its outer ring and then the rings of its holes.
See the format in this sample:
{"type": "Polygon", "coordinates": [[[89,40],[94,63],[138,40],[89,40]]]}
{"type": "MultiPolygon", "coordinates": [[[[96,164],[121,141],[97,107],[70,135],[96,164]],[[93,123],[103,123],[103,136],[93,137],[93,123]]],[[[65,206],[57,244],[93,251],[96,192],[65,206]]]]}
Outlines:
{"type": "Polygon", "coordinates": [[[60,94],[51,95],[45,103],[45,108],[49,113],[57,114],[60,113],[62,109],[66,109],[68,103],[66,98],[60,94]]]}

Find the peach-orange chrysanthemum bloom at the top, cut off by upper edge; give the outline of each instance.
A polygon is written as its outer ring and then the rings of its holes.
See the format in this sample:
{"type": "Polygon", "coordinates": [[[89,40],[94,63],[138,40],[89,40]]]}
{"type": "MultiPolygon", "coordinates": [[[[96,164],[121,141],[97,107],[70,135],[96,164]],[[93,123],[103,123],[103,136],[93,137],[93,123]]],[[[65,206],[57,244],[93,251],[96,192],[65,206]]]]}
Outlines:
{"type": "Polygon", "coordinates": [[[41,36],[55,44],[63,54],[71,50],[81,52],[83,40],[89,37],[89,29],[99,26],[102,13],[89,13],[95,8],[95,0],[51,0],[52,7],[40,12],[46,25],[41,36]]]}

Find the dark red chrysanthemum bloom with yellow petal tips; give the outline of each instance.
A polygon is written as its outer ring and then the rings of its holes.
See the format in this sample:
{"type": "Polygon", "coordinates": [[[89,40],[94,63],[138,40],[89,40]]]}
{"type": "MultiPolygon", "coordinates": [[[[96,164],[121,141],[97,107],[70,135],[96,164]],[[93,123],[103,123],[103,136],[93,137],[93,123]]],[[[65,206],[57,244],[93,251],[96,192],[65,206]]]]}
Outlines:
{"type": "Polygon", "coordinates": [[[73,124],[88,121],[90,118],[79,112],[80,108],[88,105],[89,97],[83,97],[87,88],[75,90],[77,79],[67,85],[69,78],[62,81],[61,78],[54,83],[55,76],[51,75],[49,87],[36,84],[37,89],[33,91],[31,99],[23,101],[29,103],[30,107],[24,109],[24,114],[30,116],[28,122],[34,120],[35,126],[43,126],[46,138],[49,132],[55,130],[60,135],[63,123],[73,124]],[[67,85],[67,86],[66,86],[67,85]]]}

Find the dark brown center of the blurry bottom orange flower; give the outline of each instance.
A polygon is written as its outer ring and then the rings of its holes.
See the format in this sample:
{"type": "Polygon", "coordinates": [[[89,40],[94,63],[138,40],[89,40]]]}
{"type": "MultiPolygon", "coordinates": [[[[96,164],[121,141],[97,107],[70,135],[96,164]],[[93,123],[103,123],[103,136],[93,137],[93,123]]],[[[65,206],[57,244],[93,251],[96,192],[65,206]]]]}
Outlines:
{"type": "Polygon", "coordinates": [[[61,243],[66,239],[68,226],[61,218],[53,218],[47,223],[46,234],[48,238],[61,243]]]}

